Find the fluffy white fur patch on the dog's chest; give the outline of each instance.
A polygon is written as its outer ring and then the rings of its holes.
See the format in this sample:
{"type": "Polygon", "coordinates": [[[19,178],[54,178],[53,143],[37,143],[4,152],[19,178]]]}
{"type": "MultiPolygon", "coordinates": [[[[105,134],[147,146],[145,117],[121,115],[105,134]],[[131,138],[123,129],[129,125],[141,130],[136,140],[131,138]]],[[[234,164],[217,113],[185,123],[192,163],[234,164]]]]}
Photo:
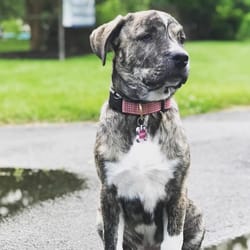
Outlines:
{"type": "Polygon", "coordinates": [[[117,187],[119,197],[139,198],[144,209],[153,212],[166,195],[165,185],[173,178],[177,162],[168,160],[159,144],[150,138],[143,143],[134,142],[118,162],[107,163],[107,182],[117,187]]]}

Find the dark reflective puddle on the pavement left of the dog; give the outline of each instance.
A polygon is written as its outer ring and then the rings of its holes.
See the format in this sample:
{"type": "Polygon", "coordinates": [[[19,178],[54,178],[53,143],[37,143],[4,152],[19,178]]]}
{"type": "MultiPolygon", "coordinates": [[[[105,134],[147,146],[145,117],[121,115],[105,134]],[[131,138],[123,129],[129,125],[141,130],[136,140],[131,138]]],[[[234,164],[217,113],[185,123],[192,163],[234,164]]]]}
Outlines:
{"type": "Polygon", "coordinates": [[[0,168],[0,222],[24,208],[87,188],[64,170],[0,168]]]}

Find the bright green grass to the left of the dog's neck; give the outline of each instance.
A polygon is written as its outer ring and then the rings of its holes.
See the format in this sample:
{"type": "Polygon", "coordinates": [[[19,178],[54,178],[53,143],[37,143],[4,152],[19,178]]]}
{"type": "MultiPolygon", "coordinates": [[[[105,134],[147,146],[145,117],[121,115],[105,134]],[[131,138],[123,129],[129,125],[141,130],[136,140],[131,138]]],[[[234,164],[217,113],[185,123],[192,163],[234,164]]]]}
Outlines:
{"type": "Polygon", "coordinates": [[[0,60],[0,121],[96,119],[108,90],[108,74],[94,56],[64,62],[0,60]]]}

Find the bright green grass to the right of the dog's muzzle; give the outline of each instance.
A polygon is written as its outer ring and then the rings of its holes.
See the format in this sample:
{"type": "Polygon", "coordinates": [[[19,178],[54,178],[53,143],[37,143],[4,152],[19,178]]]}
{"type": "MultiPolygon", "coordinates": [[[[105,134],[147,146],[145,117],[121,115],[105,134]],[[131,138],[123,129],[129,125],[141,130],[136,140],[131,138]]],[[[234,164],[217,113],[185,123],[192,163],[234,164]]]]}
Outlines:
{"type": "Polygon", "coordinates": [[[190,78],[176,95],[182,115],[250,105],[249,43],[192,42],[190,78]]]}

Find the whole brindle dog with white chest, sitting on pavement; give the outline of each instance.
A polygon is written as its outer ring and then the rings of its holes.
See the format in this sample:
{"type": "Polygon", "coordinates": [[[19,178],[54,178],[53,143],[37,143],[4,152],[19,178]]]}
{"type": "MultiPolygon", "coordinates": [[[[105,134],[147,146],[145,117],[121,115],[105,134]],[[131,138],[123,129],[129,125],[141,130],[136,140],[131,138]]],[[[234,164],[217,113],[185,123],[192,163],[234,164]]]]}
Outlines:
{"type": "Polygon", "coordinates": [[[114,51],[94,149],[105,250],[201,247],[204,223],[187,197],[190,151],[173,99],[189,73],[184,41],[176,19],[155,10],[119,15],[90,35],[103,65],[114,51]]]}

